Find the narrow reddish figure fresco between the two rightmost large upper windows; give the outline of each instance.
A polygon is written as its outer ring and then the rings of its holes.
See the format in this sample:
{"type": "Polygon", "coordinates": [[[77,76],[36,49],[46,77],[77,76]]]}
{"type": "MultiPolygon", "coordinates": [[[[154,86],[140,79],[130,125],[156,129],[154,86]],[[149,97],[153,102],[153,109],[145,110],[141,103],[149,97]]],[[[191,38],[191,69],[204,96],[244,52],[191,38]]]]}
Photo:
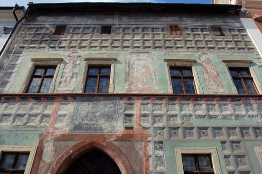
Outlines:
{"type": "Polygon", "coordinates": [[[218,72],[212,59],[206,55],[199,56],[202,71],[205,77],[207,93],[225,93],[224,87],[219,79],[218,72]]]}

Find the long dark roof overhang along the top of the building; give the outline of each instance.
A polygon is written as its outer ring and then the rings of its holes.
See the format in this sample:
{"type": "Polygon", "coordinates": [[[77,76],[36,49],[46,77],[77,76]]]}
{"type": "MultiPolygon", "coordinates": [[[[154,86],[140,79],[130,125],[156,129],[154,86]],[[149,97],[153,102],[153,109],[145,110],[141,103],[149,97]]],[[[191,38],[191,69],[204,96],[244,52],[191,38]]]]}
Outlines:
{"type": "Polygon", "coordinates": [[[201,12],[238,14],[241,5],[189,4],[189,3],[118,3],[118,2],[77,2],[77,3],[33,3],[30,13],[61,12],[201,12]]]}

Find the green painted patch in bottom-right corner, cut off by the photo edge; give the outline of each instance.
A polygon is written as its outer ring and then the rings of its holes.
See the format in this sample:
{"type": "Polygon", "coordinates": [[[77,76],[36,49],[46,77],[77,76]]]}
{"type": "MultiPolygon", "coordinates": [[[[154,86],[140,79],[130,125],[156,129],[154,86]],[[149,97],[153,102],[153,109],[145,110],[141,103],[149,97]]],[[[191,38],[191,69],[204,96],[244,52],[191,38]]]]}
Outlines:
{"type": "Polygon", "coordinates": [[[249,159],[251,160],[251,165],[255,170],[255,174],[262,174],[261,164],[259,162],[259,158],[254,148],[254,147],[262,147],[262,141],[244,141],[244,143],[247,146],[249,159]]]}

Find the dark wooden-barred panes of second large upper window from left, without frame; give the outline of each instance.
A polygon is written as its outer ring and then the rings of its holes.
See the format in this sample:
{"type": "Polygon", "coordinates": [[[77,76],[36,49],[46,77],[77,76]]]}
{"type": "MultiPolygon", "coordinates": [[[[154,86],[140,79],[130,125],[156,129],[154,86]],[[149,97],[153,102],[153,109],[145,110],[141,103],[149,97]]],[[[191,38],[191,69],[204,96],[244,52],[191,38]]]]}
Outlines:
{"type": "Polygon", "coordinates": [[[111,66],[94,66],[88,69],[85,92],[108,93],[111,66]]]}

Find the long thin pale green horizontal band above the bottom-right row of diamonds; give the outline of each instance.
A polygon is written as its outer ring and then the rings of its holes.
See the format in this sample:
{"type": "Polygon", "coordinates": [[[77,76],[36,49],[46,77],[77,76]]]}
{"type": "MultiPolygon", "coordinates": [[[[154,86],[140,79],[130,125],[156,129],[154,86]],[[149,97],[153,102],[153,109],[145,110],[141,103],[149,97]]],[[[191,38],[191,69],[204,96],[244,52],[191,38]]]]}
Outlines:
{"type": "Polygon", "coordinates": [[[194,126],[255,126],[257,122],[255,120],[216,120],[216,119],[194,119],[194,126]]]}

